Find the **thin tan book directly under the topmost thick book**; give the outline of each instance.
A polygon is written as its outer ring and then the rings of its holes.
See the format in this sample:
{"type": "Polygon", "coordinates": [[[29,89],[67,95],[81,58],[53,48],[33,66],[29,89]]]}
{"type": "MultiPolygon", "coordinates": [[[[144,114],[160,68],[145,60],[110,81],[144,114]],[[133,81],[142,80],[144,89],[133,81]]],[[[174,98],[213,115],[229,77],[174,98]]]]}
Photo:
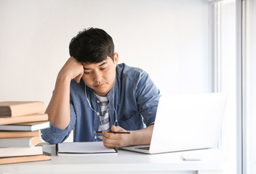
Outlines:
{"type": "Polygon", "coordinates": [[[39,121],[47,121],[47,114],[33,114],[33,115],[25,115],[20,117],[0,117],[0,125],[8,125],[15,123],[31,123],[31,122],[39,122],[39,121]]]}

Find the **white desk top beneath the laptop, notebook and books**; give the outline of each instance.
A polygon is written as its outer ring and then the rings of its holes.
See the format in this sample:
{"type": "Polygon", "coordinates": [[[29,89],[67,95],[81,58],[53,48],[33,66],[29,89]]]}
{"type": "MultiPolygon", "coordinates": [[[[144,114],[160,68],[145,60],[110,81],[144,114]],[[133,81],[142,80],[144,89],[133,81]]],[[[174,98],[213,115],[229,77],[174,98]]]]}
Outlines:
{"type": "Polygon", "coordinates": [[[222,173],[225,158],[217,149],[166,154],[140,154],[119,150],[118,154],[57,157],[55,146],[44,144],[52,160],[0,165],[0,173],[222,173]],[[201,161],[183,161],[181,154],[196,153],[201,161]]]}

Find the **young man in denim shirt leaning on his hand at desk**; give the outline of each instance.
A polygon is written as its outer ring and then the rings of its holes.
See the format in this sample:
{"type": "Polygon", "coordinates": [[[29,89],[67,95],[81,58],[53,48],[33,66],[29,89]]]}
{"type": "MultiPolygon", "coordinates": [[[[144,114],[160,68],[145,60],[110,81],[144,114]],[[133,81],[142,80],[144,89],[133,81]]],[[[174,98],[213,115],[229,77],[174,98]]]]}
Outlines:
{"type": "Polygon", "coordinates": [[[41,130],[44,141],[62,143],[74,130],[73,141],[103,141],[109,148],[150,144],[160,92],[148,74],[117,65],[111,36],[98,28],[81,31],[69,50],[47,107],[51,127],[41,130]]]}

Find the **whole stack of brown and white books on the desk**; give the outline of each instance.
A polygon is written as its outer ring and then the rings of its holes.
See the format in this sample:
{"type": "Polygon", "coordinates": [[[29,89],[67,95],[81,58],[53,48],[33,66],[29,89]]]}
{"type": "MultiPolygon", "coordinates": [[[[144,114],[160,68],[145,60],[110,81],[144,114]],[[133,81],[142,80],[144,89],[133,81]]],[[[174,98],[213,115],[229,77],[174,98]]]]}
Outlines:
{"type": "Polygon", "coordinates": [[[41,129],[49,128],[42,101],[0,102],[0,165],[51,159],[41,146],[41,129]]]}

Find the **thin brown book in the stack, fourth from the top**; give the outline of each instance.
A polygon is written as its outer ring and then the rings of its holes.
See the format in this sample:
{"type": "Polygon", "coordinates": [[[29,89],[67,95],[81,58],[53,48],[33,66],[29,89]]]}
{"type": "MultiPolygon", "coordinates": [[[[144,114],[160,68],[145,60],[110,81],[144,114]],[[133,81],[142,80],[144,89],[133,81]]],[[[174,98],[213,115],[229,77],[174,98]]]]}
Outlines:
{"type": "Polygon", "coordinates": [[[40,136],[40,130],[36,131],[0,131],[0,138],[22,138],[40,136]]]}

